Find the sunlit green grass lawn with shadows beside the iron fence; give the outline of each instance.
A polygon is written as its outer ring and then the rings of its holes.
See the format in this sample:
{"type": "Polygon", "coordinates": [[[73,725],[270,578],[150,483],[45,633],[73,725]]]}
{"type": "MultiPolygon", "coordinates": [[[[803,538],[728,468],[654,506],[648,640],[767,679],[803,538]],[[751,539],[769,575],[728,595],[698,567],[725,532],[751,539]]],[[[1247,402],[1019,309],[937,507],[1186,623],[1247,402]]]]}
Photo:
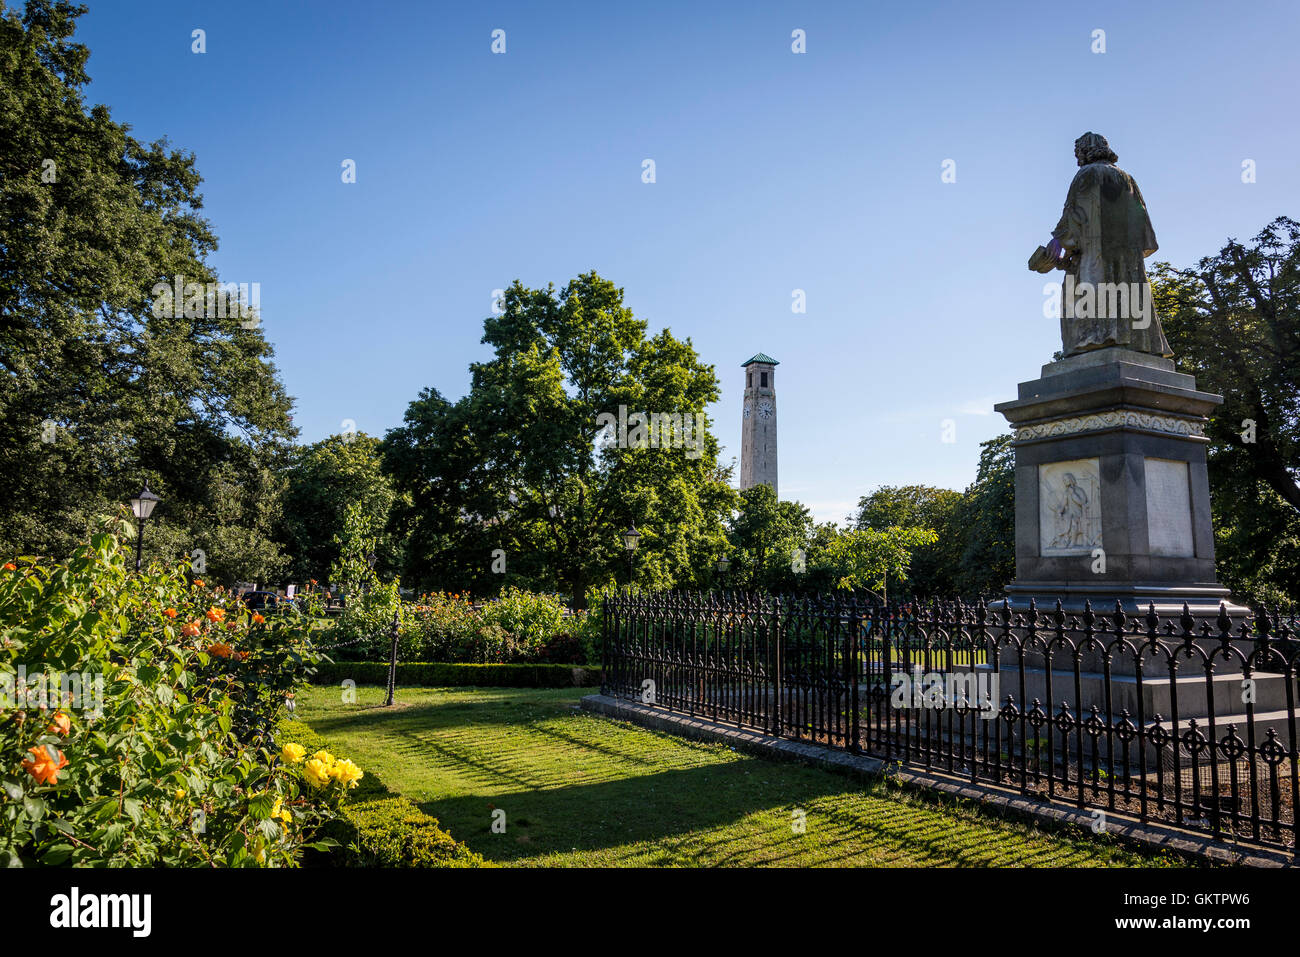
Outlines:
{"type": "Polygon", "coordinates": [[[1046,833],[884,783],[774,762],[578,710],[581,689],[337,688],[298,716],[339,757],[484,857],[523,866],[1152,866],[1084,830],[1046,833]],[[493,833],[495,809],[506,832],[493,833]],[[796,833],[794,811],[806,815],[796,833]]]}

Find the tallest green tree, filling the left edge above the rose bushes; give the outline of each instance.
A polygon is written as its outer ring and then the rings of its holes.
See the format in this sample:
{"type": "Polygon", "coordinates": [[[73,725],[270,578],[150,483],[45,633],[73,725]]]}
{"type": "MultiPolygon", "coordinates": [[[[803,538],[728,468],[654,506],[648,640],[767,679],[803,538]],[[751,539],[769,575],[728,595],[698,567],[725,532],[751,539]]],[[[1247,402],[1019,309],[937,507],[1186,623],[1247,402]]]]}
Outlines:
{"type": "Polygon", "coordinates": [[[246,317],[155,315],[217,241],[194,156],[86,107],[84,9],[0,5],[0,551],[69,555],[148,480],[147,557],[268,577],[291,402],[246,317]]]}

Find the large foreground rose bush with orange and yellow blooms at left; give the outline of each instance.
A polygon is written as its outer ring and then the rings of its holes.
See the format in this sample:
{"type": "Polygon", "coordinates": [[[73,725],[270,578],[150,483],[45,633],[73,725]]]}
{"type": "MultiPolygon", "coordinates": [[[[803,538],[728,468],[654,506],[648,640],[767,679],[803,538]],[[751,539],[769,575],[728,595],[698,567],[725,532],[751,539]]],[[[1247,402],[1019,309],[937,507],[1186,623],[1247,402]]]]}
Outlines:
{"type": "Polygon", "coordinates": [[[276,753],[308,623],[129,573],[131,533],[0,568],[0,863],[292,865],[359,774],[276,753]]]}

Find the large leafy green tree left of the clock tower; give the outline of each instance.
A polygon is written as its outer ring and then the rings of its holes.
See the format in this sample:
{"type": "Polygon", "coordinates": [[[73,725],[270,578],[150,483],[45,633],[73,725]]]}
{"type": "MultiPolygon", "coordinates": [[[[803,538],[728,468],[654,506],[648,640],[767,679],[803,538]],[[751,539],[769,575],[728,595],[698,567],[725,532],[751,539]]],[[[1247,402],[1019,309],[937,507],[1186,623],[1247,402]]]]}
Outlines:
{"type": "Polygon", "coordinates": [[[558,589],[581,606],[590,586],[625,580],[621,531],[636,523],[638,584],[706,581],[734,497],[716,438],[637,447],[649,437],[630,424],[608,434],[599,417],[702,413],[718,398],[712,367],[667,329],[647,337],[594,272],[563,291],[516,281],[502,304],[484,322],[493,356],[471,365],[469,394],[422,391],[385,437],[407,580],[558,589]]]}

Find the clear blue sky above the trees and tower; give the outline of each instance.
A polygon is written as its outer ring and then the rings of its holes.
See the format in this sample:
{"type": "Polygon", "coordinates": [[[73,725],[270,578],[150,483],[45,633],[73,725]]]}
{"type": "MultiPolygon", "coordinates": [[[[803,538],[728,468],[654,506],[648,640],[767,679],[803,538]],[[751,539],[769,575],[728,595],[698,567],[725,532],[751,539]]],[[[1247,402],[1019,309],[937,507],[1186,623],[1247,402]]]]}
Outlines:
{"type": "Polygon", "coordinates": [[[968,484],[1060,347],[1026,260],[1079,134],[1136,177],[1154,259],[1300,216],[1290,1],[88,5],[88,99],[196,153],[303,441],[463,395],[494,289],[594,268],[715,365],[724,460],[740,363],[780,360],[781,497],[842,519],[968,484]]]}

